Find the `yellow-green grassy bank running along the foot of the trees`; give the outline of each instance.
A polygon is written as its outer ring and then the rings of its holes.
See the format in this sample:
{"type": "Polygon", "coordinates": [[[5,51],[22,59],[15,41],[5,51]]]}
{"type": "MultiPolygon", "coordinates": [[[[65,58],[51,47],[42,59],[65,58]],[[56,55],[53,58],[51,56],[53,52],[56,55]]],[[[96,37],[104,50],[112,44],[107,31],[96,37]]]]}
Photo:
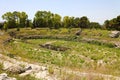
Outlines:
{"type": "MultiPolygon", "coordinates": [[[[48,29],[48,28],[37,28],[37,29],[30,29],[30,28],[21,28],[21,30],[17,33],[19,35],[45,35],[51,37],[63,37],[63,36],[74,36],[75,33],[79,30],[79,28],[60,28],[60,29],[48,29]]],[[[10,31],[16,31],[16,29],[10,29],[10,31]]],[[[110,31],[108,30],[101,30],[101,29],[82,29],[81,37],[83,38],[92,38],[97,40],[106,40],[106,42],[113,42],[113,41],[120,41],[120,38],[110,38],[109,37],[110,31]]]]}

